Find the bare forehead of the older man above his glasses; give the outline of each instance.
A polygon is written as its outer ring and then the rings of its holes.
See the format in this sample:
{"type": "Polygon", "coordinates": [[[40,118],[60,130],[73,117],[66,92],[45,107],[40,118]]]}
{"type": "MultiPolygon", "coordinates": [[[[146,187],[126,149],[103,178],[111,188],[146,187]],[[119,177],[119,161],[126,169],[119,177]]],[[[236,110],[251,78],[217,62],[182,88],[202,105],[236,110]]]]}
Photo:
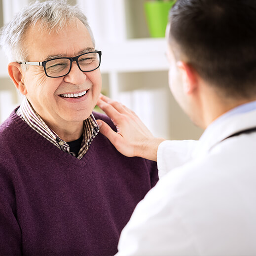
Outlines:
{"type": "Polygon", "coordinates": [[[49,28],[41,21],[29,27],[24,37],[27,61],[43,61],[47,56],[74,56],[93,48],[92,39],[85,25],[80,21],[49,28]]]}

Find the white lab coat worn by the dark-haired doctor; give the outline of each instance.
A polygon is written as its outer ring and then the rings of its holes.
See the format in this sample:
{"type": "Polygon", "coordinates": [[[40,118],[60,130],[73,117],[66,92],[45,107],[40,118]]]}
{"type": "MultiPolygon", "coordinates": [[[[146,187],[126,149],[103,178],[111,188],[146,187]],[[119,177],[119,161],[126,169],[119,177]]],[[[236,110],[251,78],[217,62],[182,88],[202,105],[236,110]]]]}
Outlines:
{"type": "Polygon", "coordinates": [[[224,140],[251,127],[256,110],[217,119],[199,141],[163,142],[162,178],[123,229],[117,255],[256,256],[256,132],[224,140]]]}

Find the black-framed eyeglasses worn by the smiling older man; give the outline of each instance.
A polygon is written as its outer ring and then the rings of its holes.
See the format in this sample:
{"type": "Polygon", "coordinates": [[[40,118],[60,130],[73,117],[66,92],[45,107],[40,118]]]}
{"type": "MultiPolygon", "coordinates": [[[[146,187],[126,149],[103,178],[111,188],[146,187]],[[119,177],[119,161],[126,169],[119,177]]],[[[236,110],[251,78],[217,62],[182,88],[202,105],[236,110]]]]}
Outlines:
{"type": "Polygon", "coordinates": [[[42,66],[48,77],[62,77],[70,73],[73,61],[82,72],[91,72],[101,65],[101,51],[86,52],[76,57],[60,57],[43,62],[19,62],[33,66],[42,66]]]}

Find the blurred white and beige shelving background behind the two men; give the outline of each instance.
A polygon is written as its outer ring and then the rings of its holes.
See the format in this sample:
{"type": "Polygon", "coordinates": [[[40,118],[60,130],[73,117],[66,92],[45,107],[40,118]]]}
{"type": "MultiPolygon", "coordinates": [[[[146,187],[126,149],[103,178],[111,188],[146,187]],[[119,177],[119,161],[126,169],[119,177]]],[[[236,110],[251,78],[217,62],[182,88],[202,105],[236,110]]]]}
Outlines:
{"type": "MultiPolygon", "coordinates": [[[[33,0],[0,0],[0,27],[33,0]]],[[[68,0],[88,18],[102,51],[102,93],[133,109],[155,136],[198,139],[195,127],[175,102],[168,87],[166,40],[149,34],[146,0],[68,0]]],[[[20,104],[0,49],[0,123],[20,104]]],[[[41,60],[31,60],[41,61],[41,60]]],[[[96,109],[97,110],[97,109],[96,109]]]]}

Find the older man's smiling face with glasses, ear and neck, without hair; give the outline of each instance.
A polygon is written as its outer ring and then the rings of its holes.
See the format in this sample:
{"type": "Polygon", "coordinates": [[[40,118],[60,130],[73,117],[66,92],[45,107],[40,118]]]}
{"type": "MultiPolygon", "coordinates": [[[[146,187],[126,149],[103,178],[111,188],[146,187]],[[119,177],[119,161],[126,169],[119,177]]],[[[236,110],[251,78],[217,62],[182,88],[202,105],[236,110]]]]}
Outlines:
{"type": "Polygon", "coordinates": [[[8,70],[47,126],[63,142],[70,142],[81,136],[83,120],[99,97],[101,52],[94,50],[90,34],[78,18],[58,32],[49,33],[44,26],[44,21],[38,21],[24,35],[24,44],[30,45],[26,59],[44,61],[10,63],[8,70]],[[78,58],[68,59],[71,56],[78,58]],[[23,72],[23,65],[34,67],[23,72]]]}

